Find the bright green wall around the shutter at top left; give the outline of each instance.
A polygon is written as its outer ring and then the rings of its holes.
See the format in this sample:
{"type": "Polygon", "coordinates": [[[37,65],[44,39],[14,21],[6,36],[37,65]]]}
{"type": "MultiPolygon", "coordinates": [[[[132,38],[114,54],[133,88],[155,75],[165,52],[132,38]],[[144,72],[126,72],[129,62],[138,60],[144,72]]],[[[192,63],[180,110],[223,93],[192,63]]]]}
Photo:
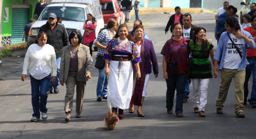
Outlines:
{"type": "MultiPolygon", "coordinates": [[[[29,19],[33,17],[36,3],[38,0],[28,0],[29,6],[29,19]]],[[[23,5],[23,0],[3,0],[2,7],[2,37],[12,36],[12,5],[23,5]],[[9,21],[4,20],[4,7],[9,7],[9,21]]]]}

